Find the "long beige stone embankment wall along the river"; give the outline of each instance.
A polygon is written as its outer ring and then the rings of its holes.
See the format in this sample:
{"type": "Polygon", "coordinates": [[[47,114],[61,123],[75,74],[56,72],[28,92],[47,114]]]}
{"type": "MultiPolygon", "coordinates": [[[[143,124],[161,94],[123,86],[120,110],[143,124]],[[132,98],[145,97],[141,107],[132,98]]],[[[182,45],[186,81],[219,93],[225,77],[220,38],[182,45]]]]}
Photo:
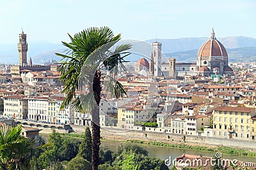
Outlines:
{"type": "Polygon", "coordinates": [[[256,141],[241,141],[236,139],[224,138],[207,138],[199,136],[188,136],[181,134],[170,134],[163,132],[148,132],[148,131],[113,131],[101,129],[101,137],[112,140],[128,140],[136,139],[142,141],[157,141],[163,143],[186,143],[188,145],[200,146],[230,146],[238,148],[249,148],[256,150],[256,141]],[[185,137],[185,139],[184,139],[185,137]]]}

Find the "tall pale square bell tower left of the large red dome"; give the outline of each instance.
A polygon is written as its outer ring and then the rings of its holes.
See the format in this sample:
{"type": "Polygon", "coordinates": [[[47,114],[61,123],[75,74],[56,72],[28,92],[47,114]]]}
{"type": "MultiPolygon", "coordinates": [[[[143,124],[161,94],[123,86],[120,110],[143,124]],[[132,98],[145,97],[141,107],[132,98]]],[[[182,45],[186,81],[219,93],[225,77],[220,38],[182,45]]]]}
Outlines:
{"type": "Polygon", "coordinates": [[[152,74],[154,74],[154,76],[162,76],[161,50],[162,50],[162,43],[159,43],[159,42],[152,43],[152,53],[150,57],[150,69],[151,69],[150,71],[152,74]]]}

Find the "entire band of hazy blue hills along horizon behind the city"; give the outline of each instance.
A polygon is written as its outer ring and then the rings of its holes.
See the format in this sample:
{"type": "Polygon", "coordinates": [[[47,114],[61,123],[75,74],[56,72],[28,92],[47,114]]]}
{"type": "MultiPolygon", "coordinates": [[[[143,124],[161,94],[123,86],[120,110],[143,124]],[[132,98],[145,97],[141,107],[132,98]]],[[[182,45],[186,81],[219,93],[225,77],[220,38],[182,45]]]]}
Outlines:
{"type": "MultiPolygon", "coordinates": [[[[179,38],[179,39],[157,39],[157,41],[163,44],[162,51],[166,53],[166,57],[176,57],[177,61],[196,60],[198,49],[208,38],[179,38]]],[[[256,46],[256,39],[244,36],[218,38],[220,42],[227,48],[230,60],[234,60],[243,57],[247,57],[250,60],[255,58],[255,48],[248,46],[256,46]],[[234,49],[233,49],[234,48],[234,49]],[[231,50],[232,49],[232,50],[231,50]]],[[[153,43],[156,39],[149,39],[147,43],[153,43]]],[[[49,43],[47,41],[31,41],[28,42],[28,60],[32,58],[35,64],[44,64],[44,62],[54,60],[60,60],[61,58],[56,56],[55,52],[63,52],[65,49],[61,43],[49,43]]],[[[139,50],[147,50],[149,52],[143,52],[144,55],[150,57],[150,50],[145,45],[136,46],[139,50]]],[[[129,55],[127,60],[136,61],[140,59],[141,55],[129,55]]],[[[17,44],[3,44],[0,45],[0,62],[4,63],[18,63],[19,53],[17,50],[17,44]]]]}

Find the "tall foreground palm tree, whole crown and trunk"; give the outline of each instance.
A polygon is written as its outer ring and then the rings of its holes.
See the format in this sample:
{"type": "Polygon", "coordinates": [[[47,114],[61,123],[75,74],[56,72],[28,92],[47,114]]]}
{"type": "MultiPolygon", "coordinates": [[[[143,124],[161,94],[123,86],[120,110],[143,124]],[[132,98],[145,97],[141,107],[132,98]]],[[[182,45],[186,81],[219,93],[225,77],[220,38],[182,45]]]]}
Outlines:
{"type": "MultiPolygon", "coordinates": [[[[70,34],[68,36],[71,40],[70,43],[62,41],[63,45],[68,48],[67,53],[56,53],[63,57],[60,65],[60,81],[63,84],[63,92],[66,97],[61,104],[61,109],[71,103],[77,111],[92,113],[92,169],[97,170],[100,146],[99,104],[102,91],[102,69],[109,71],[108,75],[118,73],[116,66],[125,69],[122,62],[125,62],[124,57],[129,53],[124,51],[131,48],[131,45],[116,46],[113,52],[109,50],[120,40],[121,35],[114,36],[108,27],[92,27],[75,34],[74,37],[70,34]],[[85,82],[83,87],[81,87],[81,82],[85,82]],[[83,94],[81,94],[81,89],[82,91],[86,89],[83,94]],[[76,95],[77,92],[80,96],[76,95]]],[[[108,75],[105,75],[105,78],[108,75]]],[[[111,76],[108,78],[111,81],[108,82],[106,90],[115,97],[126,94],[118,81],[111,76]]]]}

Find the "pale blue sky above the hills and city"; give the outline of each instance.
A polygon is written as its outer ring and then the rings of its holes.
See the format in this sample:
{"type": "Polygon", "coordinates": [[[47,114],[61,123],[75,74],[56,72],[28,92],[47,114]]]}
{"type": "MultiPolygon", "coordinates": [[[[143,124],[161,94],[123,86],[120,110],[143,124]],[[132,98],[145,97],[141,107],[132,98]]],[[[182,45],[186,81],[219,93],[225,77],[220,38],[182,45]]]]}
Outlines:
{"type": "Polygon", "coordinates": [[[108,26],[122,39],[249,36],[256,38],[255,0],[0,0],[0,44],[68,41],[88,27],[108,26]]]}

